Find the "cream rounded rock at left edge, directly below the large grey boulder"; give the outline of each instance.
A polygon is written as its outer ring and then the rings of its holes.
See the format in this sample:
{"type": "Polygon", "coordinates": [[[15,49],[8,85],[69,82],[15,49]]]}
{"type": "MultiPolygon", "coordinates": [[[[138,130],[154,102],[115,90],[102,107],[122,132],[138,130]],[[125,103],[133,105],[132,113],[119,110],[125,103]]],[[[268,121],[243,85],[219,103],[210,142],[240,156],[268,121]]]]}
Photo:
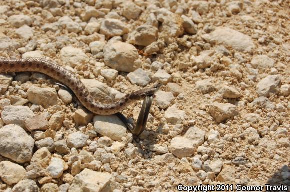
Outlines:
{"type": "Polygon", "coordinates": [[[0,178],[8,185],[16,184],[25,178],[26,170],[10,161],[0,162],[0,178]]]}

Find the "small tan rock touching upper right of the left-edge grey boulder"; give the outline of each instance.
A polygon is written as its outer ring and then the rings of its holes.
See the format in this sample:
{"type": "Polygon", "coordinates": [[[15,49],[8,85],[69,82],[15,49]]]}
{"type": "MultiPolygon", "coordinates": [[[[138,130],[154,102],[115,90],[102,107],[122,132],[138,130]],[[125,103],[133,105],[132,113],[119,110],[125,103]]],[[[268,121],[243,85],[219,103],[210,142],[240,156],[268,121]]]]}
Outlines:
{"type": "Polygon", "coordinates": [[[34,115],[28,117],[25,120],[25,127],[28,131],[32,132],[35,130],[47,130],[48,129],[48,121],[43,115],[34,115]]]}

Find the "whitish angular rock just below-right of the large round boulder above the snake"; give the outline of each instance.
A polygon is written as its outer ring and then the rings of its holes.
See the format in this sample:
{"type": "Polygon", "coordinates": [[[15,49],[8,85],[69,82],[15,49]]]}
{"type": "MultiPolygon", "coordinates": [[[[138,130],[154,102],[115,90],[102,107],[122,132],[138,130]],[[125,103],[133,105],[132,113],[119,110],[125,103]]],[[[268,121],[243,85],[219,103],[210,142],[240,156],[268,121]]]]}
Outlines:
{"type": "Polygon", "coordinates": [[[138,86],[146,86],[150,83],[151,78],[148,76],[148,74],[141,68],[138,68],[137,70],[130,72],[127,75],[127,78],[133,85],[138,86]]]}

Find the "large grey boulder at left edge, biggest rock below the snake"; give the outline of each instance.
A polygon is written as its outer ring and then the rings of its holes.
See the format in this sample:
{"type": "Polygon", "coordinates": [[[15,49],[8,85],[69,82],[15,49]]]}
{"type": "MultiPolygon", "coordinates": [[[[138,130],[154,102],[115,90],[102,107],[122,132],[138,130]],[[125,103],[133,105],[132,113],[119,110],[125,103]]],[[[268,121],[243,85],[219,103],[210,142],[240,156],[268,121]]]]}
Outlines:
{"type": "Polygon", "coordinates": [[[33,147],[34,139],[18,125],[5,125],[0,129],[0,155],[17,163],[29,162],[33,147]]]}

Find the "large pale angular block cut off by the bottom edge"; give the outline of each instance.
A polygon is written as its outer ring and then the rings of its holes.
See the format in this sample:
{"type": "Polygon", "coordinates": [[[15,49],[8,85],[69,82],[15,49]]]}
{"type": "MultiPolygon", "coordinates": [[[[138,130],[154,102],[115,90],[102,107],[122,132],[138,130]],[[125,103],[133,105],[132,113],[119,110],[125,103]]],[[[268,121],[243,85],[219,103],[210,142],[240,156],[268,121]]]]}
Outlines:
{"type": "Polygon", "coordinates": [[[110,173],[85,168],[74,177],[68,192],[102,192],[109,189],[111,179],[110,173]]]}

